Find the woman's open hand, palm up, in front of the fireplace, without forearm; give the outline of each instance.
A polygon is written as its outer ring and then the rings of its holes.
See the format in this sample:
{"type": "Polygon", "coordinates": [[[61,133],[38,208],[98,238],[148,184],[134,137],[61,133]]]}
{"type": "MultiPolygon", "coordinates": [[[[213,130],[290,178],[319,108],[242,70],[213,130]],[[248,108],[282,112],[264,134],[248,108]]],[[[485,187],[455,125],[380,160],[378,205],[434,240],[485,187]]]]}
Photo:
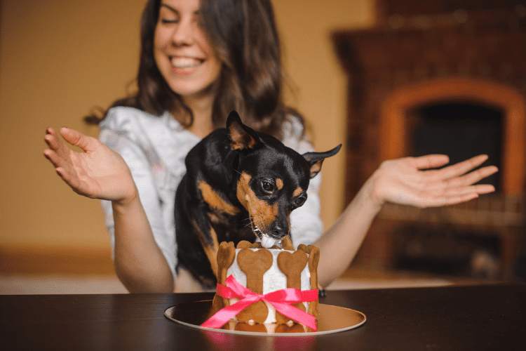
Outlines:
{"type": "Polygon", "coordinates": [[[384,161],[370,178],[372,200],[379,206],[389,201],[424,208],[476,199],[495,191],[493,185],[473,185],[498,171],[496,166],[472,171],[486,160],[487,155],[479,155],[441,169],[429,168],[449,163],[443,154],[384,161]]]}

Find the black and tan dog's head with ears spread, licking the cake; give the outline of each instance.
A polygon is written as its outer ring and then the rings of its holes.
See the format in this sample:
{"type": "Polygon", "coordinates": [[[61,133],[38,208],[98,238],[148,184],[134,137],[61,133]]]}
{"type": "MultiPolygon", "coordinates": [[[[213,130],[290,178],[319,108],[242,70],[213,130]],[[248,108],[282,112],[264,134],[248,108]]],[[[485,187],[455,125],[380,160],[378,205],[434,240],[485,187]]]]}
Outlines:
{"type": "Polygon", "coordinates": [[[298,154],[270,135],[245,126],[233,111],[227,119],[230,147],[239,152],[237,198],[248,211],[252,231],[279,240],[289,234],[290,212],[304,204],[309,180],[328,152],[298,154]]]}

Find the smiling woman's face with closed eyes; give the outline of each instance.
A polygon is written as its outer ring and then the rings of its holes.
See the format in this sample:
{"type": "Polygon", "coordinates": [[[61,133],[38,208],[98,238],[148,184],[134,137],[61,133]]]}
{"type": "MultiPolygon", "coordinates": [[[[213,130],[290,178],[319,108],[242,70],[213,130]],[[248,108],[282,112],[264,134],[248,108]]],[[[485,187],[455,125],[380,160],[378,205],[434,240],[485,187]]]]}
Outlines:
{"type": "Polygon", "coordinates": [[[222,64],[199,25],[199,0],[161,0],[154,58],[168,86],[182,98],[213,91],[222,64]]]}

